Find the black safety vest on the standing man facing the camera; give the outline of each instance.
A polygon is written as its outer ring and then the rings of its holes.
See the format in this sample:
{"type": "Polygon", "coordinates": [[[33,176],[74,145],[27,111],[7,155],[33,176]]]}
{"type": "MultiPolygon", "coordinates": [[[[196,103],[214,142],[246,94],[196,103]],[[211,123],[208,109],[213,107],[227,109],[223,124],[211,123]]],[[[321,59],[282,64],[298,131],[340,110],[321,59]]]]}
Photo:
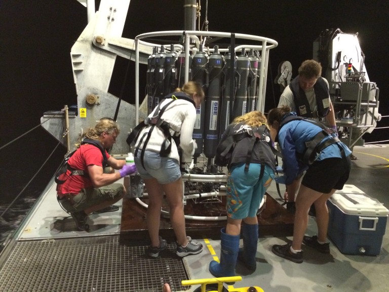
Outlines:
{"type": "MultiPolygon", "coordinates": [[[[300,88],[298,80],[299,80],[299,76],[293,79],[293,81],[289,85],[293,93],[294,104],[296,105],[296,113],[300,117],[314,118],[312,109],[310,109],[309,106],[308,99],[306,98],[304,90],[300,88]],[[306,109],[306,114],[301,114],[300,108],[304,108],[304,107],[306,109]]],[[[314,91],[315,91],[316,103],[318,104],[318,116],[325,117],[327,116],[330,107],[323,106],[323,100],[329,98],[329,90],[323,78],[319,77],[319,79],[316,81],[314,85],[314,91]]]]}

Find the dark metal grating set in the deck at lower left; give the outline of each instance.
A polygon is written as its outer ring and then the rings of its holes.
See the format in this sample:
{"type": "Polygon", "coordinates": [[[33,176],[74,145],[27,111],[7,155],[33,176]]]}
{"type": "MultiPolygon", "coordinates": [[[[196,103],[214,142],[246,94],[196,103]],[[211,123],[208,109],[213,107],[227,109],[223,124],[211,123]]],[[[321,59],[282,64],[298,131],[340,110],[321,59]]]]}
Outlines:
{"type": "Polygon", "coordinates": [[[147,243],[119,243],[119,236],[16,243],[0,270],[1,291],[162,291],[186,290],[176,244],[157,259],[146,256],[147,243]]]}

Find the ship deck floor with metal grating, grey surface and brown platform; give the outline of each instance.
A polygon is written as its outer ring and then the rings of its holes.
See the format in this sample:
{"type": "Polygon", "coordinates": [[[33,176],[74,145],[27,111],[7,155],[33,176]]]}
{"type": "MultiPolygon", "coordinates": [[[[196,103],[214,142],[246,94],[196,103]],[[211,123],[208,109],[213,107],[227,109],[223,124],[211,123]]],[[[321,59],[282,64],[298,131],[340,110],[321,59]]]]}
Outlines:
{"type": "MultiPolygon", "coordinates": [[[[354,154],[359,160],[353,161],[347,191],[361,190],[387,208],[389,148],[356,146],[354,154]]],[[[229,290],[258,286],[266,292],[387,291],[388,225],[379,255],[343,254],[330,240],[330,254],[303,246],[304,262],[295,264],[271,252],[273,244],[292,239],[290,214],[281,203],[273,184],[258,215],[261,227],[257,269],[250,272],[238,264],[236,271],[242,281],[229,290]],[[269,222],[266,227],[265,222],[272,216],[276,223],[269,222]],[[280,217],[285,221],[280,222],[280,217]]],[[[198,285],[182,286],[181,280],[212,278],[208,265],[220,255],[219,229],[225,221],[187,221],[187,234],[201,241],[204,250],[180,259],[174,253],[176,245],[170,239],[169,221],[164,219],[161,235],[169,238],[168,249],[158,259],[148,259],[144,254],[148,245],[145,210],[133,199],[121,200],[116,205],[120,206],[119,211],[90,215],[88,232],[75,231],[72,218],[56,200],[52,180],[0,255],[0,290],[162,291],[163,283],[168,282],[172,290],[194,291],[198,285]]],[[[309,217],[306,234],[315,233],[315,217],[309,217]]]]}

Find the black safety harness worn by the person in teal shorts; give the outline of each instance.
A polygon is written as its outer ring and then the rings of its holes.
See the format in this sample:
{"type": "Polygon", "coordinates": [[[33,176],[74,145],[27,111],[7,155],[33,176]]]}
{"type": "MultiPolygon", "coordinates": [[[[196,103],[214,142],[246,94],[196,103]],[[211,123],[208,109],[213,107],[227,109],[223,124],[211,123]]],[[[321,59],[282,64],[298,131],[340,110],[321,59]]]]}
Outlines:
{"type": "MultiPolygon", "coordinates": [[[[247,156],[246,156],[246,165],[245,165],[245,171],[249,170],[250,162],[251,162],[251,154],[254,150],[255,144],[258,141],[267,142],[271,148],[271,151],[278,155],[282,156],[280,152],[278,152],[276,149],[274,149],[273,145],[271,145],[270,137],[267,131],[265,131],[266,125],[261,125],[260,127],[255,128],[247,128],[245,132],[229,135],[223,142],[221,142],[218,147],[216,148],[216,156],[215,156],[215,163],[219,166],[227,166],[228,170],[230,168],[231,158],[232,158],[232,152],[234,152],[236,144],[244,139],[249,138],[248,140],[248,146],[247,146],[247,156]]],[[[259,174],[259,179],[262,178],[263,173],[265,171],[264,165],[264,154],[262,152],[262,148],[258,148],[259,150],[259,160],[261,163],[261,170],[259,174]]]]}

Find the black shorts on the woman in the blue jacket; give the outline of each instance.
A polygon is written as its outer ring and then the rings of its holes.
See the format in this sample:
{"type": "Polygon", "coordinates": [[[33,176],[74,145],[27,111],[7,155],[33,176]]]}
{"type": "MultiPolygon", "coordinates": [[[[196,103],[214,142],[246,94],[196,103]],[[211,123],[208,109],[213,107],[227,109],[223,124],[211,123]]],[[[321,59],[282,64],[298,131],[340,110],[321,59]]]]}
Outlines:
{"type": "Polygon", "coordinates": [[[327,158],[309,166],[301,185],[328,194],[332,189],[341,190],[351,171],[351,158],[327,158]]]}

